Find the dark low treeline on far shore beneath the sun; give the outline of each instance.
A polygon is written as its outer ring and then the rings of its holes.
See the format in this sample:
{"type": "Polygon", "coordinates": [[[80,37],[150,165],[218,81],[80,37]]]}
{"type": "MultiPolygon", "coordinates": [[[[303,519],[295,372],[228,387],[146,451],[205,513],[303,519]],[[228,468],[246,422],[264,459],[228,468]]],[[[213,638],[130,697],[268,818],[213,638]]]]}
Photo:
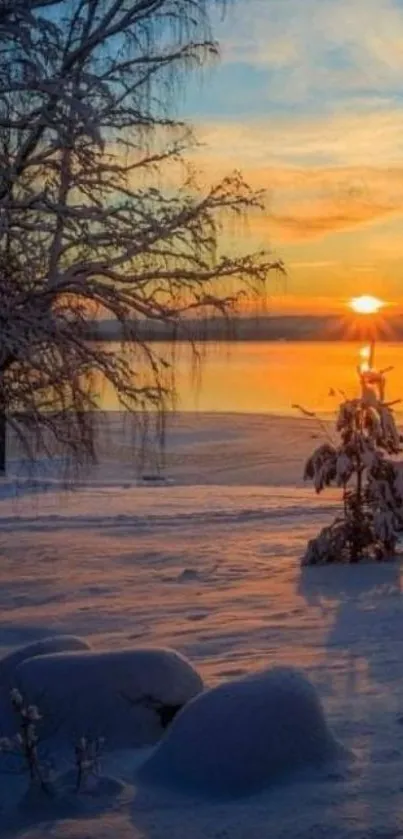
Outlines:
{"type": "MultiPolygon", "coordinates": [[[[138,320],[136,336],[143,341],[360,341],[365,340],[351,323],[351,318],[336,315],[255,315],[238,316],[230,321],[213,317],[204,321],[188,320],[181,329],[152,320],[138,320]]],[[[88,338],[94,341],[118,341],[122,338],[117,321],[93,322],[88,338]]],[[[383,320],[377,340],[403,340],[403,318],[383,320]]]]}

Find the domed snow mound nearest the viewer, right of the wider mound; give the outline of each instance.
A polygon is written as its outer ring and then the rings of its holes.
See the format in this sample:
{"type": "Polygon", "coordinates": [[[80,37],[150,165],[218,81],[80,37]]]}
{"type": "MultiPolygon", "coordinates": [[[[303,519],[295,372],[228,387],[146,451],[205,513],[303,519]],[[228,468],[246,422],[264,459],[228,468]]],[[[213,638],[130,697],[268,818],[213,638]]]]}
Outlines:
{"type": "Polygon", "coordinates": [[[138,778],[182,792],[239,796],[342,754],[313,685],[298,670],[275,667],[196,697],[138,778]]]}

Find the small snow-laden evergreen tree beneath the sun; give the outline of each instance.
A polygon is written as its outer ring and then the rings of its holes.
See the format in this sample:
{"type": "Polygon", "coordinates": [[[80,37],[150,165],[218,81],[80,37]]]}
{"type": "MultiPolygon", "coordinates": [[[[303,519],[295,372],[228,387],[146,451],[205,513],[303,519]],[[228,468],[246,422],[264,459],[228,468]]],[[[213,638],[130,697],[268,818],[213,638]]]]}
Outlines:
{"type": "Polygon", "coordinates": [[[393,556],[403,527],[401,451],[385,372],[360,371],[361,395],[339,408],[339,442],[326,442],[308,459],[304,478],[316,492],[342,487],[343,512],[308,543],[304,565],[359,562],[393,556]]]}

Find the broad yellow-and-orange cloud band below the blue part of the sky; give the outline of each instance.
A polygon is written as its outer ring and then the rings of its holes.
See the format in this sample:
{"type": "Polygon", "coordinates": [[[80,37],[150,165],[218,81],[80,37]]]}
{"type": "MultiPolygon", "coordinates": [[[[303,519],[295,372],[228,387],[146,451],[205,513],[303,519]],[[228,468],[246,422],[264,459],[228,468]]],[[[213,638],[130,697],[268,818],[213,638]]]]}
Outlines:
{"type": "Polygon", "coordinates": [[[403,114],[368,112],[201,126],[200,180],[239,168],[266,191],[255,238],[321,239],[403,215],[403,114]]]}

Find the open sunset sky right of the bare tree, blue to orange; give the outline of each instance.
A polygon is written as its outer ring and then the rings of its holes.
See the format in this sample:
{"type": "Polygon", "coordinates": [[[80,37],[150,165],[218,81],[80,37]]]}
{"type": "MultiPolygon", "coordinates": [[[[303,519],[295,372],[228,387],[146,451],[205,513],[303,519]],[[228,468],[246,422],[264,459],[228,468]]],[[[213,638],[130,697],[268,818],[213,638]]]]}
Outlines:
{"type": "Polygon", "coordinates": [[[286,263],[278,308],[403,307],[403,0],[234,0],[214,32],[183,107],[210,176],[268,190],[248,235],[286,263]]]}

